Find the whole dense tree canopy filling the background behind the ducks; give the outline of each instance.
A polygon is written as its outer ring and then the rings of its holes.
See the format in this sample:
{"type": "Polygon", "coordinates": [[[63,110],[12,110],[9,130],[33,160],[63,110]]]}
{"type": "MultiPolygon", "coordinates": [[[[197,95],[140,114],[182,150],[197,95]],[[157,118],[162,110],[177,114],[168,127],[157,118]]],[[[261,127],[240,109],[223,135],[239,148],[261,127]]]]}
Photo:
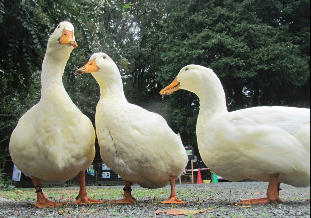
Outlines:
{"type": "Polygon", "coordinates": [[[74,72],[95,52],[116,62],[128,101],[161,114],[196,155],[197,96],[159,95],[185,65],[216,72],[229,110],[310,107],[310,1],[0,0],[3,155],[18,119],[40,99],[47,40],[61,21],[74,25],[78,43],[64,86],[93,123],[99,86],[74,72]]]}

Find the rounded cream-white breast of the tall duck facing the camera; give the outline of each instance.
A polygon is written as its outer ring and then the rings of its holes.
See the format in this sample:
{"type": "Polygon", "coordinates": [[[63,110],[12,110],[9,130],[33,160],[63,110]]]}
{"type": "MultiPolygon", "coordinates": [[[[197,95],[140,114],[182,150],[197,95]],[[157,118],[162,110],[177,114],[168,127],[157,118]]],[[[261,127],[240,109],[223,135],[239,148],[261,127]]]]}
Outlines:
{"type": "Polygon", "coordinates": [[[91,121],[72,102],[41,99],[19,120],[12,133],[10,153],[26,175],[63,181],[92,163],[94,142],[91,121]]]}

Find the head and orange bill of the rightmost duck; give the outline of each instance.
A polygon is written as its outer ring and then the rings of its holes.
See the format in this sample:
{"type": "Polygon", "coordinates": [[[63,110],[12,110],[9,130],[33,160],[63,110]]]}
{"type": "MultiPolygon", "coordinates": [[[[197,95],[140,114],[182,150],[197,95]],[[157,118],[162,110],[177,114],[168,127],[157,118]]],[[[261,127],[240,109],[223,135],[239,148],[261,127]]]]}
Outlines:
{"type": "Polygon", "coordinates": [[[210,68],[191,64],[183,67],[174,81],[160,91],[160,95],[169,95],[179,89],[184,89],[200,97],[209,89],[208,87],[211,88],[215,84],[221,86],[218,77],[210,68]]]}

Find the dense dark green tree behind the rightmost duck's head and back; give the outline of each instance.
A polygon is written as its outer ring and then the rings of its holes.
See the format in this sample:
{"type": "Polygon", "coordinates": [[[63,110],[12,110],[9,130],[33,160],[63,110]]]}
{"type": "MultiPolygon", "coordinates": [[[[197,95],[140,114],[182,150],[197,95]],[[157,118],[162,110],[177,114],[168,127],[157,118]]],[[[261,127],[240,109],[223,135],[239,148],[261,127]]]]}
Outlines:
{"type": "MultiPolygon", "coordinates": [[[[308,58],[298,55],[289,24],[280,20],[282,5],[267,4],[185,2],[166,20],[168,43],[161,58],[177,69],[187,64],[212,68],[225,88],[229,110],[298,106],[299,89],[310,76],[308,58]]],[[[309,104],[306,99],[301,106],[309,104]]]]}

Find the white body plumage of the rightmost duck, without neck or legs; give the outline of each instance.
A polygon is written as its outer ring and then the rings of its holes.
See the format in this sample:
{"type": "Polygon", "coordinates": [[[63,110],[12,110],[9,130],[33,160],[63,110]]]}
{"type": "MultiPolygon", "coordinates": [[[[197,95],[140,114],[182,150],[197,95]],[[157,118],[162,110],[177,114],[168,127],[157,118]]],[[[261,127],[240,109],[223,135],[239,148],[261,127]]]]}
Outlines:
{"type": "Polygon", "coordinates": [[[292,107],[254,107],[208,120],[200,114],[200,154],[214,173],[230,181],[268,182],[268,174],[280,173],[281,183],[310,186],[308,119],[310,109],[292,107]]]}

